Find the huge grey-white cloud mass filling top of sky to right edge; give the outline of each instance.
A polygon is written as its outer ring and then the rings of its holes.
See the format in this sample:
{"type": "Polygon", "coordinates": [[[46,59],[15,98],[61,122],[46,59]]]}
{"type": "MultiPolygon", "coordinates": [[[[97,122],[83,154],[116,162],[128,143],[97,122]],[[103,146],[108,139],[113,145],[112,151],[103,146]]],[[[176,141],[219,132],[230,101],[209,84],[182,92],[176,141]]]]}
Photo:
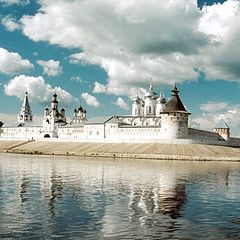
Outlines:
{"type": "Polygon", "coordinates": [[[151,78],[159,85],[196,80],[202,71],[208,79],[240,80],[240,1],[202,9],[196,0],[40,4],[35,15],[21,18],[23,33],[79,48],[70,62],[101,66],[108,74],[105,92],[128,93],[151,78]]]}

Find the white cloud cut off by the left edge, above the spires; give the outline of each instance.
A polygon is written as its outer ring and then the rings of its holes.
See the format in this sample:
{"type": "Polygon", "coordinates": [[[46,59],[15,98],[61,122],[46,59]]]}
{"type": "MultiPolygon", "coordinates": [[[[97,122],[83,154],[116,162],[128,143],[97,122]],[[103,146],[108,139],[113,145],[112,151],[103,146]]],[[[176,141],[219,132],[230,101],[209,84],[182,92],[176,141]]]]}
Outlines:
{"type": "Polygon", "coordinates": [[[18,53],[0,48],[0,72],[4,74],[18,74],[29,71],[34,66],[29,60],[23,59],[18,53]]]}

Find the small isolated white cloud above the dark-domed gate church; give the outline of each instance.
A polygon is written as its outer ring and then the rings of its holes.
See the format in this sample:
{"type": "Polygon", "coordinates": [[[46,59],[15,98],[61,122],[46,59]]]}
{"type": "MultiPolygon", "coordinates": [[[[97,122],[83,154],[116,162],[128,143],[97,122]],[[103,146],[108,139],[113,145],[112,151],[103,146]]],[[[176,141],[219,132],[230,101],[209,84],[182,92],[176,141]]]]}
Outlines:
{"type": "Polygon", "coordinates": [[[43,73],[48,76],[57,76],[62,73],[62,66],[59,61],[50,59],[48,61],[38,60],[37,64],[43,67],[43,73]]]}

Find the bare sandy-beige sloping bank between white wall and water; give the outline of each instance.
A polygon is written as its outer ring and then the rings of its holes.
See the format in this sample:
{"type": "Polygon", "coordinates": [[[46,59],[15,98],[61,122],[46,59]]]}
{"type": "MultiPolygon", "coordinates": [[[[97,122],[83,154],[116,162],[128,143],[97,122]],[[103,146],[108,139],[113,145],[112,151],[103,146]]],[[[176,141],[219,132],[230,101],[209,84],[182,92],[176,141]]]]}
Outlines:
{"type": "Polygon", "coordinates": [[[0,140],[0,152],[152,160],[240,162],[240,148],[200,144],[129,144],[0,140]]]}

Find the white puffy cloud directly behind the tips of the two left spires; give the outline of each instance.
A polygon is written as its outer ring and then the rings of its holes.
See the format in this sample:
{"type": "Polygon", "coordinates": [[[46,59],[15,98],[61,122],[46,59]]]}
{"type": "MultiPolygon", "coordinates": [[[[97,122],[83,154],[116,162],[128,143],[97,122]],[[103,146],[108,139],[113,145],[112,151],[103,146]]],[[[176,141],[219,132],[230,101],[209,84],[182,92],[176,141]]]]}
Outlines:
{"type": "Polygon", "coordinates": [[[57,93],[62,105],[70,105],[76,101],[70,93],[60,87],[53,88],[50,84],[46,83],[41,76],[32,77],[19,75],[4,85],[4,92],[6,95],[16,96],[21,100],[26,91],[29,93],[30,101],[44,105],[49,104],[54,92],[57,93]]]}

